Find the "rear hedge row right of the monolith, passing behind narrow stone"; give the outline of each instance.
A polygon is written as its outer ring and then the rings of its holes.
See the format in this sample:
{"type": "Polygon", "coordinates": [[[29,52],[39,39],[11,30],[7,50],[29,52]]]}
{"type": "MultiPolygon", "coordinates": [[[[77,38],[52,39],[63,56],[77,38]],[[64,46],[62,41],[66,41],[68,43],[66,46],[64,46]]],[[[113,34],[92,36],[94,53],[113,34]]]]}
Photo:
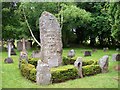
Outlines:
{"type": "MultiPolygon", "coordinates": [[[[76,57],[73,58],[68,58],[68,57],[63,57],[63,65],[73,65],[74,62],[76,61],[76,57]]],[[[82,66],[86,66],[86,65],[97,65],[98,61],[96,60],[84,60],[82,63],[82,66]]]]}

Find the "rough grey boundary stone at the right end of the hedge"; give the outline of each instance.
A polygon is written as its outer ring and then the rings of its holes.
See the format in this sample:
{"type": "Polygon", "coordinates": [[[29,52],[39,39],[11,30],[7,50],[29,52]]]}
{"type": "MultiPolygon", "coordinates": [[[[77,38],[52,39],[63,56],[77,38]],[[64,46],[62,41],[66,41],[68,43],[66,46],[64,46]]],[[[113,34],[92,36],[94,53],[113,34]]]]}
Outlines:
{"type": "Polygon", "coordinates": [[[108,65],[109,65],[108,59],[109,59],[108,55],[105,55],[99,59],[98,63],[99,63],[99,66],[102,70],[102,73],[108,72],[108,65]]]}

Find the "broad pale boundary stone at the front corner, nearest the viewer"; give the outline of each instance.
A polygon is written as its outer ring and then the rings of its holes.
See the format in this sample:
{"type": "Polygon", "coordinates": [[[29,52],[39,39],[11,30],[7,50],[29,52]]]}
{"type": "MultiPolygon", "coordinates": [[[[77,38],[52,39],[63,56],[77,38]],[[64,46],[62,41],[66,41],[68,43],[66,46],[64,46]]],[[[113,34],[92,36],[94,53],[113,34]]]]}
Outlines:
{"type": "Polygon", "coordinates": [[[36,74],[37,84],[47,85],[51,83],[51,73],[48,64],[43,63],[41,60],[38,60],[36,70],[37,70],[36,74]]]}

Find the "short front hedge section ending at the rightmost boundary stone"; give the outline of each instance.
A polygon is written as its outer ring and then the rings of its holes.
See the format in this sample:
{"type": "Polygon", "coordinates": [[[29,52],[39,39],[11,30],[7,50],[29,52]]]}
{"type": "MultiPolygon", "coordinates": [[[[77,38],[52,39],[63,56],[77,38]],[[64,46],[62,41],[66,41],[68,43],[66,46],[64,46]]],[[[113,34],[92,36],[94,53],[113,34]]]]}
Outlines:
{"type": "Polygon", "coordinates": [[[101,68],[99,65],[87,65],[82,67],[82,72],[83,76],[90,76],[101,73],[101,68]]]}

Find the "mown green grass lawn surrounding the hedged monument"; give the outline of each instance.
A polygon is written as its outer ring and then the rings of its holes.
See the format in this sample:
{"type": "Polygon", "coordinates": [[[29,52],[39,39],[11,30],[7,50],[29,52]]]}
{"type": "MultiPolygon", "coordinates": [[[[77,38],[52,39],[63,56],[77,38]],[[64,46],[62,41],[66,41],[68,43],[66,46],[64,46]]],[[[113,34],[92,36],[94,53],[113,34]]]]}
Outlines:
{"type": "MultiPolygon", "coordinates": [[[[114,70],[114,66],[118,65],[118,62],[112,61],[112,54],[117,53],[115,50],[109,50],[107,52],[103,52],[102,49],[98,49],[97,52],[93,52],[92,56],[84,57],[84,48],[73,48],[76,52],[76,57],[83,57],[84,60],[99,60],[102,56],[109,56],[109,72],[108,73],[100,73],[94,76],[86,76],[84,78],[68,80],[62,83],[54,83],[50,85],[37,85],[30,80],[25,79],[18,69],[18,58],[19,52],[16,50],[17,55],[11,56],[14,60],[12,64],[5,64],[4,59],[7,57],[7,52],[0,52],[2,54],[2,88],[118,88],[118,71],[114,70]]],[[[63,56],[67,56],[68,51],[71,48],[65,48],[63,50],[63,56]]],[[[32,50],[28,51],[29,56],[32,53],[32,50]]],[[[1,69],[1,68],[0,68],[1,69]]],[[[0,77],[1,80],[1,77],[0,77]]]]}

